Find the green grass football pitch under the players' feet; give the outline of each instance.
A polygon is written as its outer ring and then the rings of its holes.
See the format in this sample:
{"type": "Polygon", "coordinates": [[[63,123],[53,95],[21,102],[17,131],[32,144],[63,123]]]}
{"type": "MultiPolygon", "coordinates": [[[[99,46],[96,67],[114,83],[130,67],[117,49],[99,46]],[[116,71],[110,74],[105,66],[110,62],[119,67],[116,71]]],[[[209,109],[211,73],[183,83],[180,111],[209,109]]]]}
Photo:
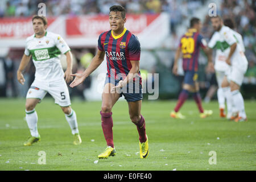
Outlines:
{"type": "MultiPolygon", "coordinates": [[[[255,170],[256,102],[246,101],[247,122],[218,117],[216,101],[203,104],[213,115],[200,119],[196,104],[185,102],[187,119],[170,118],[176,101],[143,101],[150,152],[139,158],[137,128],[130,121],[125,101],[113,108],[114,144],[117,155],[98,160],[106,143],[101,129],[101,102],[72,101],[82,144],[74,146],[68,122],[52,98],[36,106],[42,140],[23,146],[30,136],[24,120],[25,100],[0,100],[0,170],[255,170]],[[39,164],[39,151],[46,164],[39,164]],[[98,161],[97,161],[98,160],[98,161]],[[216,164],[214,164],[216,162],[216,164]]],[[[41,160],[42,161],[42,160],[41,160]]]]}

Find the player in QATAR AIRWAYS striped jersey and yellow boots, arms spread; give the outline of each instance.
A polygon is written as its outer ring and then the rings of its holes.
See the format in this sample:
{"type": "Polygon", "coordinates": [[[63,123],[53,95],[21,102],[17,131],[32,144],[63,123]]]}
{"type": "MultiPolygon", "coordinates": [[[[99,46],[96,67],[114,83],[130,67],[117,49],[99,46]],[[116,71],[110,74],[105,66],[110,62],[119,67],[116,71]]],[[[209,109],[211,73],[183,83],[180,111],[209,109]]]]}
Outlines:
{"type": "Polygon", "coordinates": [[[83,73],[76,73],[71,88],[81,84],[104,60],[106,54],[108,72],[102,93],[101,126],[106,139],[106,150],[98,155],[106,159],[116,154],[113,143],[112,107],[122,95],[129,106],[131,121],[137,126],[141,158],[148,156],[148,138],[145,119],[141,115],[142,85],[139,71],[141,46],[137,36],[125,28],[125,9],[122,6],[110,7],[109,31],[103,32],[98,39],[98,51],[89,67],[83,73]],[[126,88],[126,89],[125,89],[126,88]],[[122,90],[122,91],[120,91],[122,90]],[[126,92],[126,91],[129,92],[126,92]]]}

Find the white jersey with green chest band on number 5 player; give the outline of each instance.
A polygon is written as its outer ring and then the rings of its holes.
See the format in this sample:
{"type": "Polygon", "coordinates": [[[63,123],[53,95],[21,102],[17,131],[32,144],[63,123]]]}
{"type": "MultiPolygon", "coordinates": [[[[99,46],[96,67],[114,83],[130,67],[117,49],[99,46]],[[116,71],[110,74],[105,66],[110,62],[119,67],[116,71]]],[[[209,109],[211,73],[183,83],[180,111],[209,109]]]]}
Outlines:
{"type": "Polygon", "coordinates": [[[32,55],[36,80],[55,81],[64,77],[60,54],[68,51],[70,48],[60,35],[46,32],[46,35],[40,39],[35,35],[28,37],[24,54],[32,55]]]}

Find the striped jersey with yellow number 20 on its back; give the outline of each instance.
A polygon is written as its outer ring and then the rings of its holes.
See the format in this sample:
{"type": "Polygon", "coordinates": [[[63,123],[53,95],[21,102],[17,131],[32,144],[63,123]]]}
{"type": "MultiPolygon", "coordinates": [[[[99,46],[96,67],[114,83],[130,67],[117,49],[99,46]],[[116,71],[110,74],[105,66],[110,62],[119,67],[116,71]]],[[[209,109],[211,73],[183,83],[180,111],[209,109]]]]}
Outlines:
{"type": "Polygon", "coordinates": [[[200,47],[207,47],[207,42],[203,36],[194,28],[189,30],[181,37],[179,44],[183,53],[183,69],[184,71],[197,71],[200,47]]]}

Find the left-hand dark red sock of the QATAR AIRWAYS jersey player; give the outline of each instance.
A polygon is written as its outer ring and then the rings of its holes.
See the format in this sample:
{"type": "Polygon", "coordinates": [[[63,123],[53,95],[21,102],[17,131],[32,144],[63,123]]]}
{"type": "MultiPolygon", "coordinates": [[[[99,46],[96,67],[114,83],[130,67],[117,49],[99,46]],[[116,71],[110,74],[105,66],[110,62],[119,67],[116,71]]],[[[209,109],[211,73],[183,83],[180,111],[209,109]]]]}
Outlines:
{"type": "Polygon", "coordinates": [[[111,113],[101,113],[101,127],[103,130],[103,134],[107,143],[107,146],[111,146],[114,148],[113,142],[113,119],[112,112],[111,113]]]}

